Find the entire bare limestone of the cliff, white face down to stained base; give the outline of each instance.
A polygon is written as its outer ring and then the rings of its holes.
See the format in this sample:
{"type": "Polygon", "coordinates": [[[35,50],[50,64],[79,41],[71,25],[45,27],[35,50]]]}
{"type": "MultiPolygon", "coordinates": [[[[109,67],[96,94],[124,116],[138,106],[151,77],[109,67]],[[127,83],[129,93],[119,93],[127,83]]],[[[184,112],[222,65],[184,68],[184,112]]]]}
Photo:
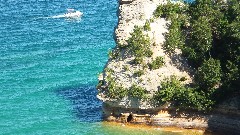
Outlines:
{"type": "MultiPolygon", "coordinates": [[[[107,120],[135,123],[147,123],[160,126],[178,126],[184,128],[209,128],[234,129],[239,133],[239,119],[228,118],[220,114],[202,114],[198,112],[176,112],[170,104],[159,106],[153,102],[154,93],[161,89],[161,82],[171,76],[184,78],[183,84],[193,82],[192,69],[181,56],[180,50],[175,50],[173,55],[168,55],[164,50],[165,33],[171,22],[164,18],[154,18],[153,12],[160,4],[166,4],[165,0],[119,0],[119,22],[115,30],[116,47],[114,50],[120,52],[114,58],[109,58],[104,71],[99,76],[97,97],[103,101],[103,113],[107,120]],[[121,46],[128,46],[127,40],[131,37],[134,26],[144,27],[150,22],[150,29],[143,31],[150,38],[151,57],[144,57],[143,63],[151,63],[155,58],[162,57],[163,66],[158,69],[144,68],[141,64],[132,64],[134,56],[126,53],[121,46]],[[136,72],[142,70],[141,75],[136,72]],[[135,98],[126,95],[122,98],[113,98],[107,93],[109,91],[109,77],[114,85],[130,91],[133,85],[147,91],[147,98],[135,98]],[[220,119],[223,118],[223,119],[220,119]],[[219,125],[219,123],[221,123],[219,125]],[[238,126],[236,126],[238,124],[238,126]]],[[[223,108],[219,107],[221,110],[223,108]]],[[[239,108],[237,109],[239,112],[239,108]]]]}

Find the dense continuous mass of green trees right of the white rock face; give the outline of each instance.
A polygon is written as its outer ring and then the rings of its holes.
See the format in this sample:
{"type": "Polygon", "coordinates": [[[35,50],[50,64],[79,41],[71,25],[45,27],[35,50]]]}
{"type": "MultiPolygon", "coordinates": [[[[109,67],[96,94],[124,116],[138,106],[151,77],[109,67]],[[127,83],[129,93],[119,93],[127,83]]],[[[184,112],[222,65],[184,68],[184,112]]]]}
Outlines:
{"type": "Polygon", "coordinates": [[[162,90],[156,94],[159,101],[174,101],[179,106],[185,104],[206,110],[217,99],[222,100],[222,94],[239,94],[238,0],[195,0],[185,6],[169,2],[158,6],[154,16],[171,21],[165,50],[172,54],[176,48],[181,49],[196,71],[195,83],[191,88],[182,86],[174,78],[161,84],[162,90]]]}

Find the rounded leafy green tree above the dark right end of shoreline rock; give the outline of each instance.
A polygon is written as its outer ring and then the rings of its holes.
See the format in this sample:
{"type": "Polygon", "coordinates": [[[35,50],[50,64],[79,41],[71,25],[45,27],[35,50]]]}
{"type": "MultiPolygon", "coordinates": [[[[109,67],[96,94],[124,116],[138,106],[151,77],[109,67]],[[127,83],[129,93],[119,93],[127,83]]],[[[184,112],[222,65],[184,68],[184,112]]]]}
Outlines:
{"type": "Polygon", "coordinates": [[[220,61],[210,58],[209,60],[204,61],[198,68],[196,82],[200,88],[211,90],[215,85],[219,84],[221,76],[220,61]]]}

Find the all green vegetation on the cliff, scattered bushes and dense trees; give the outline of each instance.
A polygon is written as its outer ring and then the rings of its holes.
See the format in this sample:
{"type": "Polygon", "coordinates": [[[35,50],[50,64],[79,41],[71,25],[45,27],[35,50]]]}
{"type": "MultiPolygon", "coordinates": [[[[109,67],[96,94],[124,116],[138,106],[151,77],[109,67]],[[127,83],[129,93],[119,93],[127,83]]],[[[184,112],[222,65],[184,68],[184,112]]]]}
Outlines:
{"type": "MultiPolygon", "coordinates": [[[[169,55],[181,49],[189,65],[194,68],[194,81],[183,84],[186,78],[170,77],[162,82],[153,99],[159,104],[171,103],[177,108],[210,110],[215,103],[228,95],[240,94],[240,4],[238,0],[195,0],[189,4],[168,3],[160,5],[154,17],[171,21],[165,34],[164,49],[169,55]]],[[[143,70],[134,75],[140,77],[146,68],[155,70],[163,66],[164,59],[157,57],[151,63],[144,63],[151,57],[150,39],[143,30],[150,30],[150,22],[143,27],[135,26],[128,45],[119,45],[118,51],[110,52],[111,58],[118,58],[120,49],[133,56],[134,64],[141,64],[143,70]]],[[[125,66],[124,70],[129,70],[125,66]]],[[[141,78],[142,79],[142,78],[141,78]]],[[[140,80],[140,79],[139,79],[140,80]]],[[[102,82],[101,82],[102,84],[102,82]]],[[[106,95],[121,99],[126,96],[142,99],[147,91],[137,85],[125,89],[116,80],[107,77],[106,95]]]]}

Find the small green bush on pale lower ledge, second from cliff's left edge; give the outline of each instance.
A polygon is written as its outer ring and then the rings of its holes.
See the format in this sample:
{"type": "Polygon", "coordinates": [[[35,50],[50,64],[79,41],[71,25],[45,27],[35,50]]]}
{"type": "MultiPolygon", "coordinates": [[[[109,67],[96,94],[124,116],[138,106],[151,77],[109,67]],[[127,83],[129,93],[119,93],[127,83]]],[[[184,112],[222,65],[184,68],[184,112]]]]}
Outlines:
{"type": "Polygon", "coordinates": [[[129,88],[129,96],[131,97],[142,99],[146,94],[147,94],[147,90],[140,86],[137,86],[136,84],[133,84],[129,88]]]}

